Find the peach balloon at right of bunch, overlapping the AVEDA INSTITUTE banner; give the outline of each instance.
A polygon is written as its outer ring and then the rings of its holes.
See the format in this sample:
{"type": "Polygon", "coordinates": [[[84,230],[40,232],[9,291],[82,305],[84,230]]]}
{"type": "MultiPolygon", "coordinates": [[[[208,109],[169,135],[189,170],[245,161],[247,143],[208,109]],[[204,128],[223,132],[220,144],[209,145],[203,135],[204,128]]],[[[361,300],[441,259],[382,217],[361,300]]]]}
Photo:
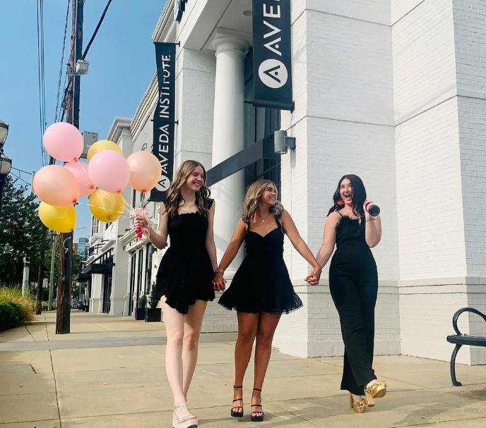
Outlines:
{"type": "Polygon", "coordinates": [[[135,152],[126,161],[130,166],[129,183],[132,188],[142,193],[155,188],[162,175],[162,167],[152,153],[135,152]]]}

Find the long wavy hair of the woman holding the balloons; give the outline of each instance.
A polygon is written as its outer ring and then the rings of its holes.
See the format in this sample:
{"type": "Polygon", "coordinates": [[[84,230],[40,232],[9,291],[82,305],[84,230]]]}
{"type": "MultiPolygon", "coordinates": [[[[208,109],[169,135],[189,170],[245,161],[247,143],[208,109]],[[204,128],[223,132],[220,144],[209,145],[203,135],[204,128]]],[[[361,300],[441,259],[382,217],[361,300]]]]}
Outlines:
{"type": "Polygon", "coordinates": [[[191,175],[192,171],[198,166],[201,166],[203,169],[204,178],[203,185],[201,185],[201,188],[196,192],[196,205],[199,214],[202,214],[205,217],[209,215],[209,207],[212,200],[209,198],[211,190],[206,187],[206,169],[204,169],[204,166],[198,161],[184,161],[179,165],[179,168],[177,168],[174,180],[172,181],[169,190],[167,190],[165,212],[167,212],[168,216],[176,216],[179,206],[182,202],[185,202],[181,195],[182,186],[186,183],[187,178],[191,175]]]}

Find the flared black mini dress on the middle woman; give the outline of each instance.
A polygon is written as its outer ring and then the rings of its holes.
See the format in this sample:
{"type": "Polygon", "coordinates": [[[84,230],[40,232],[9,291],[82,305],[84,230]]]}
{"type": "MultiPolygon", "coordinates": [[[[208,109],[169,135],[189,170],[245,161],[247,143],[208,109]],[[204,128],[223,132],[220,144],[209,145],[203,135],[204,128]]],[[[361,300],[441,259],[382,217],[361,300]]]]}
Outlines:
{"type": "Polygon", "coordinates": [[[219,300],[226,309],[288,314],[302,307],[283,260],[282,226],[276,218],[275,222],[277,227],[265,236],[250,231],[248,224],[247,254],[219,300]]]}

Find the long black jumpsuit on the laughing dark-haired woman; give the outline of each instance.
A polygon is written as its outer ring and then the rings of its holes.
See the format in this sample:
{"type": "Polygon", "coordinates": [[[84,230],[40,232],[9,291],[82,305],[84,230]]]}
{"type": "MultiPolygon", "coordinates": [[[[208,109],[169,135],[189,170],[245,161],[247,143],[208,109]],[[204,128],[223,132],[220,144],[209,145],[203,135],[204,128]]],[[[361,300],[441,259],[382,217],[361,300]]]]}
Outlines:
{"type": "Polygon", "coordinates": [[[338,214],[337,250],[331,260],[329,284],[344,341],[341,389],[362,396],[364,385],[377,379],[372,367],[377,264],[365,240],[364,216],[358,220],[338,214]]]}

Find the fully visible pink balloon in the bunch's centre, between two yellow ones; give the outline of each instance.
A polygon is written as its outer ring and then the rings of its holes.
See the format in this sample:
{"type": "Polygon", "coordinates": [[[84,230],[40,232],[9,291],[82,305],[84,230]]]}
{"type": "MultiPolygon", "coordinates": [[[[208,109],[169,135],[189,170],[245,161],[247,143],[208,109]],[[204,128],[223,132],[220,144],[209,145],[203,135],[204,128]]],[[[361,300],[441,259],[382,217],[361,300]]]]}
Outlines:
{"type": "Polygon", "coordinates": [[[90,159],[88,173],[100,189],[121,193],[129,183],[130,166],[122,154],[114,150],[101,150],[90,159]]]}

